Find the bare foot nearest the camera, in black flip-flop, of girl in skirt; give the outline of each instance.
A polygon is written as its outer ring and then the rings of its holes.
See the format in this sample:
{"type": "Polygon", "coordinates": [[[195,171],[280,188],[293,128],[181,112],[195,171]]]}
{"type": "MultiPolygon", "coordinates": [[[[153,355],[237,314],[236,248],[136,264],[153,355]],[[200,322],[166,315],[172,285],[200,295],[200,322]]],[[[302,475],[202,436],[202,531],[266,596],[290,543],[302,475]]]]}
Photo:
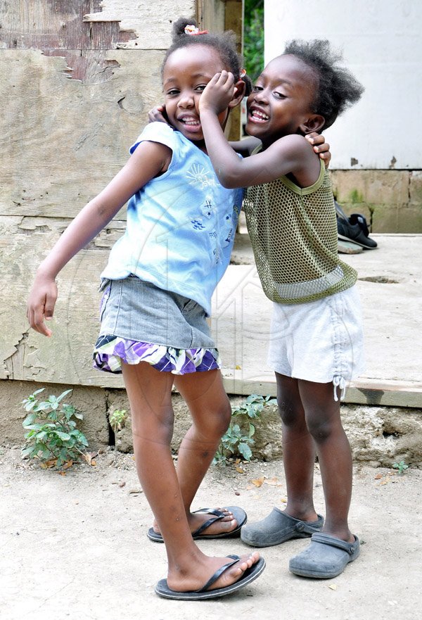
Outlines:
{"type": "MultiPolygon", "coordinates": [[[[191,564],[188,565],[188,570],[183,570],[179,565],[174,567],[174,569],[169,567],[167,586],[176,592],[193,592],[195,590],[200,590],[200,588],[205,586],[205,583],[207,583],[212,575],[221,567],[224,567],[225,564],[231,562],[231,559],[230,557],[208,557],[204,555],[200,562],[195,564],[191,562],[191,564]]],[[[242,555],[238,562],[232,564],[231,567],[223,571],[219,578],[217,578],[207,590],[216,590],[217,588],[231,586],[232,583],[236,583],[236,581],[241,578],[245,571],[250,569],[253,564],[256,564],[259,559],[260,554],[256,551],[249,555],[242,555]]]]}

